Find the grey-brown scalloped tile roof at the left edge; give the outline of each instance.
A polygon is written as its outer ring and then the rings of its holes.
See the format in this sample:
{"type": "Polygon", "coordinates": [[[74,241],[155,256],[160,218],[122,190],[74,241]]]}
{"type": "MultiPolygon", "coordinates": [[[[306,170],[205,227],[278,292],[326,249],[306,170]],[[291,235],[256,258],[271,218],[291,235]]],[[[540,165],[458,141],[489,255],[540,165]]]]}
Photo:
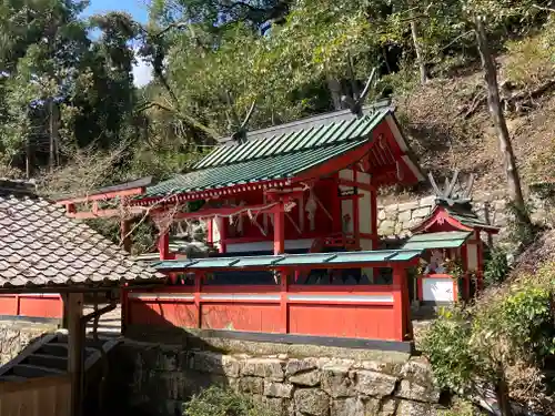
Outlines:
{"type": "Polygon", "coordinates": [[[64,211],[0,189],[0,288],[114,286],[164,276],[64,211]]]}

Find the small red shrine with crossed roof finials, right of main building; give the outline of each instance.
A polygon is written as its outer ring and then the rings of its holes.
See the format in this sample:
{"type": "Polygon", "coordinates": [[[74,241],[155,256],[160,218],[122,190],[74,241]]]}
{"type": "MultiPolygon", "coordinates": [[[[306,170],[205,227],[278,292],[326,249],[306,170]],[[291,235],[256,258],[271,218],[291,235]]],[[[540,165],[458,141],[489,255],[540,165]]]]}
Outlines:
{"type": "Polygon", "coordinates": [[[416,298],[424,304],[467,301],[483,287],[482,233],[498,229],[478,219],[472,205],[473,176],[464,186],[456,171],[443,190],[428,175],[436,200],[432,213],[414,226],[403,248],[424,250],[416,277],[416,298]]]}

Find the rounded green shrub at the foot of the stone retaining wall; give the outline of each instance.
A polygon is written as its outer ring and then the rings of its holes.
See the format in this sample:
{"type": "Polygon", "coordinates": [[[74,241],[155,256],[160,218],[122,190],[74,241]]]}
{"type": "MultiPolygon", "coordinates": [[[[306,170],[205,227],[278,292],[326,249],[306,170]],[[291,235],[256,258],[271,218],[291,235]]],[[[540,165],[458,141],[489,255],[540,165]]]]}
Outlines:
{"type": "Polygon", "coordinates": [[[209,387],[184,405],[183,416],[275,416],[251,396],[221,387],[209,387]]]}

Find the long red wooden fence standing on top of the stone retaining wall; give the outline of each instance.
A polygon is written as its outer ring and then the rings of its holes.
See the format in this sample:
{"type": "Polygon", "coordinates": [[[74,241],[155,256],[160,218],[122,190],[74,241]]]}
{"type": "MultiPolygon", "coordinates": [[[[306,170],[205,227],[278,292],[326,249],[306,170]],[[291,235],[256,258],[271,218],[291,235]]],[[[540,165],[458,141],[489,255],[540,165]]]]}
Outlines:
{"type": "Polygon", "coordinates": [[[198,277],[194,286],[128,292],[124,324],[404,341],[403,276],[393,285],[353,286],[202,286],[198,277]]]}

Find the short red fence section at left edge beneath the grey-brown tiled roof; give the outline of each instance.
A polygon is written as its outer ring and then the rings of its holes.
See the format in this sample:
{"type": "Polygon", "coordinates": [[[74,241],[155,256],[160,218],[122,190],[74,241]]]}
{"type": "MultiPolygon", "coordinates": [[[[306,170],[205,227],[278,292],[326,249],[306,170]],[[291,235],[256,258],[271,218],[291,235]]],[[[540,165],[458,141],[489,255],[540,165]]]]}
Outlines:
{"type": "Polygon", "coordinates": [[[0,315],[62,318],[63,301],[57,293],[2,294],[0,315]]]}

